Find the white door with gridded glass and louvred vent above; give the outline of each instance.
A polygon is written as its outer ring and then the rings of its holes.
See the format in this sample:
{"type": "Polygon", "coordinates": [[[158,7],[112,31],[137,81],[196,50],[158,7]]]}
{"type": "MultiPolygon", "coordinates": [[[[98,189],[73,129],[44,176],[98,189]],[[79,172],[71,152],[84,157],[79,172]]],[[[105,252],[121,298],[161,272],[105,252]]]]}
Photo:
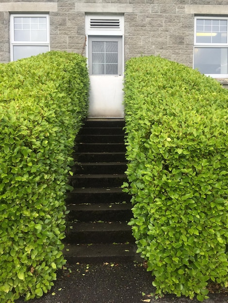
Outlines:
{"type": "Polygon", "coordinates": [[[88,22],[90,74],[89,117],[124,117],[123,22],[116,16],[90,16],[88,22]]]}

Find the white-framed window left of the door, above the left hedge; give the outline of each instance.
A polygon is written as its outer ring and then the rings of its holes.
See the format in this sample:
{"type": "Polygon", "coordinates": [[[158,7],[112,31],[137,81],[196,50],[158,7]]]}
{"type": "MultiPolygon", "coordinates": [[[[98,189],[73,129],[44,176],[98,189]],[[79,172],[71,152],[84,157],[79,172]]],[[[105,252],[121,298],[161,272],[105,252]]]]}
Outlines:
{"type": "Polygon", "coordinates": [[[49,51],[49,15],[11,15],[11,60],[49,51]]]}

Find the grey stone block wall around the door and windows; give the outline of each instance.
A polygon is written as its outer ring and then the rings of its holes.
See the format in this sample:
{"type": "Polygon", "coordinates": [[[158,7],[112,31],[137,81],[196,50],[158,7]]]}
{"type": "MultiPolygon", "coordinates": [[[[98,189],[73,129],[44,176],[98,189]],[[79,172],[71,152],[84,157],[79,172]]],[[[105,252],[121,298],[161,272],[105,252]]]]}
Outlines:
{"type": "Polygon", "coordinates": [[[125,60],[160,55],[193,66],[194,15],[227,14],[228,0],[0,0],[0,62],[10,60],[9,12],[49,12],[50,49],[84,54],[85,12],[124,14],[125,60]]]}

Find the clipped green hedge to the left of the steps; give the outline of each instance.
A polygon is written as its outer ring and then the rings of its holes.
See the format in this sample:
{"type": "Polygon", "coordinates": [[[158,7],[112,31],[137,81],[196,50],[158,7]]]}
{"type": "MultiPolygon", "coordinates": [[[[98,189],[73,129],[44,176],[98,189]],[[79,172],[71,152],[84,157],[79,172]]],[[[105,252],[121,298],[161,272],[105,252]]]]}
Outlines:
{"type": "Polygon", "coordinates": [[[0,302],[42,296],[65,263],[65,193],[88,85],[77,54],[0,65],[0,302]]]}

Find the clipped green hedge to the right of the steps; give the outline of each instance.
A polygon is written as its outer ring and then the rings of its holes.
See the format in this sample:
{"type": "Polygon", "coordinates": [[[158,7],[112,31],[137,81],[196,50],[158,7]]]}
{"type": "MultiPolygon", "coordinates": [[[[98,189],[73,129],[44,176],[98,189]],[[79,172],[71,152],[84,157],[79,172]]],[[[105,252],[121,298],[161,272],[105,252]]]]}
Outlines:
{"type": "Polygon", "coordinates": [[[228,91],[160,57],[125,74],[125,191],[132,232],[157,293],[203,301],[228,286],[228,91]]]}

